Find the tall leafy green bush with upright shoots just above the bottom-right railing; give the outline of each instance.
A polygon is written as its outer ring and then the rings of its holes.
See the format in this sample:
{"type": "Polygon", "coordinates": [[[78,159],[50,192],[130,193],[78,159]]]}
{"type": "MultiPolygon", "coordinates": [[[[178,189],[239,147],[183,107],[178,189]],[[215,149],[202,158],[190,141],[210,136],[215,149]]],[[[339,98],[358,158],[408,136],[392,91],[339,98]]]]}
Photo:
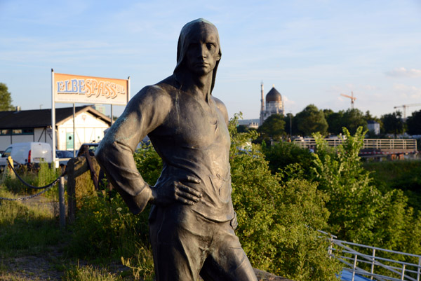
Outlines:
{"type": "Polygon", "coordinates": [[[317,148],[314,172],[319,188],[329,196],[328,230],[341,240],[359,242],[413,254],[419,253],[420,214],[408,207],[402,191],[392,189],[382,194],[364,170],[358,153],[363,144],[362,128],[354,136],[344,128],[344,144],[328,148],[315,135],[317,148]]]}

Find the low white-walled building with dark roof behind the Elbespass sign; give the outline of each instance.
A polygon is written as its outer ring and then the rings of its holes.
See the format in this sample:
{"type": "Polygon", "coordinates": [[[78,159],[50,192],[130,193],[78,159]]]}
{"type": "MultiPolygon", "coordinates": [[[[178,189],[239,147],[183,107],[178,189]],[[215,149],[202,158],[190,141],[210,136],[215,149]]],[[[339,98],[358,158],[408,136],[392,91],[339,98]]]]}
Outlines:
{"type": "MultiPolygon", "coordinates": [[[[85,142],[99,142],[111,119],[91,106],[75,108],[73,134],[73,107],[55,109],[56,149],[73,150],[85,142]]],[[[51,109],[0,111],[0,150],[16,142],[47,142],[53,144],[51,109]]]]}

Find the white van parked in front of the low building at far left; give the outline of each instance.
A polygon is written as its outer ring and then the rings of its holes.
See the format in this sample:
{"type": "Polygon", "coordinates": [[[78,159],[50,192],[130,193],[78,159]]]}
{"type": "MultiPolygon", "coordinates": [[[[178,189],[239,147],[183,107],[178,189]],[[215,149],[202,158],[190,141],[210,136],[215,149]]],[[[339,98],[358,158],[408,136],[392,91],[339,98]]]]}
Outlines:
{"type": "Polygon", "coordinates": [[[0,170],[7,165],[8,156],[16,163],[26,165],[29,163],[53,162],[53,151],[50,144],[46,142],[18,142],[11,144],[1,153],[0,170]]]}

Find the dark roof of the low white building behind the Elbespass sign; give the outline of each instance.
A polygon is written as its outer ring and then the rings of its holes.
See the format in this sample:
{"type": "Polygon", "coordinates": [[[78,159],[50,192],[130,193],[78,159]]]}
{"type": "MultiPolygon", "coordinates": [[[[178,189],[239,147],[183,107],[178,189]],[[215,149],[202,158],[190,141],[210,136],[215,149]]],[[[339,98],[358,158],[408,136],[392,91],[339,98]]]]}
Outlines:
{"type": "MultiPolygon", "coordinates": [[[[75,113],[89,112],[111,125],[111,119],[91,106],[75,107],[75,113]]],[[[73,118],[73,107],[55,109],[55,125],[73,118]]],[[[51,126],[51,109],[0,111],[0,129],[44,128],[51,126]]]]}

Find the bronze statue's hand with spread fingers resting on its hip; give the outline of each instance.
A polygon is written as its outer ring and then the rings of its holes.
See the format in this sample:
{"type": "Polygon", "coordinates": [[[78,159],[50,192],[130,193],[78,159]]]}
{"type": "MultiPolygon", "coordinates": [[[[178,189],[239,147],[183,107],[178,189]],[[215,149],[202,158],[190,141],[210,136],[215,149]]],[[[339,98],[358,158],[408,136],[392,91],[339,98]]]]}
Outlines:
{"type": "Polygon", "coordinates": [[[194,184],[200,184],[201,180],[187,176],[177,181],[165,181],[159,186],[152,186],[152,204],[166,206],[174,202],[185,205],[194,205],[202,197],[201,192],[194,189],[194,184]]]}

